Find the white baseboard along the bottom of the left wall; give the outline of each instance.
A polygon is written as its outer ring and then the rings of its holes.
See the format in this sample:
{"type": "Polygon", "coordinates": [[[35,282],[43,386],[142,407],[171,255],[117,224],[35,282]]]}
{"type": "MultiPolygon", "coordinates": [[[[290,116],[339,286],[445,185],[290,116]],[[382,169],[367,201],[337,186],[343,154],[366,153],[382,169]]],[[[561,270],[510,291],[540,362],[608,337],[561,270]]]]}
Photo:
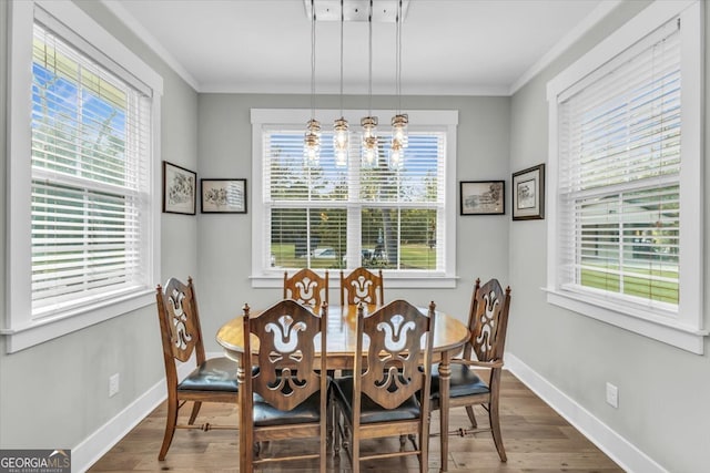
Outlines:
{"type": "MultiPolygon", "coordinates": [[[[207,358],[221,354],[209,353],[207,358]]],[[[178,367],[178,377],[182,379],[193,369],[194,361],[183,363],[178,367]]],[[[71,449],[72,472],[83,473],[89,470],[166,398],[165,378],[162,378],[113,419],[71,449]]],[[[158,455],[158,452],[155,454],[158,455]]]]}

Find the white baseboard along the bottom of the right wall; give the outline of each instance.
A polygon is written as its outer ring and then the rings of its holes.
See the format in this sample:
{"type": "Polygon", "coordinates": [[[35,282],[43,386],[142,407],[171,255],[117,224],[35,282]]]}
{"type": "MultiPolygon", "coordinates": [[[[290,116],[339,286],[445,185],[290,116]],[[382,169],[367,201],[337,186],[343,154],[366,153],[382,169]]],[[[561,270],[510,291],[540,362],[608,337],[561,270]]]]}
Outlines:
{"type": "Polygon", "coordinates": [[[613,460],[627,472],[668,473],[646,453],[641,452],[628,440],[616,433],[591,412],[569,398],[549,381],[525,364],[510,352],[505,354],[506,367],[525,385],[549,404],[567,422],[579,430],[587,439],[613,460]]]}

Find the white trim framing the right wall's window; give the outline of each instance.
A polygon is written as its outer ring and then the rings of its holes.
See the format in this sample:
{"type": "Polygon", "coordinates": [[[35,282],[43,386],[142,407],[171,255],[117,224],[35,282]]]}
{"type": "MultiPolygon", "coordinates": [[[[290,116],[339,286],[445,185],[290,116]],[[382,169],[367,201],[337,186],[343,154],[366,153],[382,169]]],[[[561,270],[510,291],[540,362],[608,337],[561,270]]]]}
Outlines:
{"type": "Polygon", "coordinates": [[[549,102],[549,162],[547,202],[547,301],[594,319],[633,331],[683,350],[702,354],[703,329],[703,6],[698,0],[656,1],[623,27],[600,42],[572,65],[562,71],[547,85],[549,102]],[[680,16],[682,45],[682,160],[690,165],[681,166],[681,232],[680,232],[680,300],[674,318],[649,315],[637,308],[611,305],[591,296],[581,295],[559,287],[557,278],[557,126],[558,95],[587,74],[601,66],[619,51],[680,16]],[[693,78],[687,80],[686,78],[693,78]],[[691,196],[690,198],[688,196],[691,196]],[[684,250],[683,250],[684,248],[684,250]],[[688,250],[690,248],[691,250],[688,250]]]}

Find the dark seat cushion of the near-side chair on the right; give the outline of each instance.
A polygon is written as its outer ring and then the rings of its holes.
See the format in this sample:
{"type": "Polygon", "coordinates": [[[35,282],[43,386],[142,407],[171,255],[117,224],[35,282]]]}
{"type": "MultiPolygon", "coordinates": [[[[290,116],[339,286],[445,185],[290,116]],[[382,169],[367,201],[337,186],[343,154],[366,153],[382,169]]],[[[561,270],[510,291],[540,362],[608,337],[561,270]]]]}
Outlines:
{"type": "MultiPolygon", "coordinates": [[[[345,415],[351,419],[353,418],[353,377],[337,378],[334,382],[334,394],[343,407],[345,415]]],[[[359,422],[362,424],[404,421],[418,418],[419,402],[414,395],[404,401],[404,403],[398,408],[385,409],[369,399],[367,394],[363,393],[359,417],[359,422]]]]}

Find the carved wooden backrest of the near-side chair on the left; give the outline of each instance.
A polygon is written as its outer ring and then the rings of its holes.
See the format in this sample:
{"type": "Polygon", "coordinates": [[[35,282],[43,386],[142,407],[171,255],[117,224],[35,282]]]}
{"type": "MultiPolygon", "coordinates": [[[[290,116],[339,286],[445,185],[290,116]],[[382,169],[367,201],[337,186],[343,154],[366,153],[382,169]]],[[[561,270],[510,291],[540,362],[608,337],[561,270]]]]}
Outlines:
{"type": "MultiPolygon", "coordinates": [[[[291,411],[318,390],[326,392],[327,360],[320,349],[326,347],[326,325],[325,305],[318,316],[295,300],[284,299],[255,317],[245,306],[244,333],[258,340],[258,370],[244,377],[247,398],[254,392],[274,408],[291,411]]],[[[244,353],[254,353],[255,348],[253,338],[244,337],[244,353]]]]}

